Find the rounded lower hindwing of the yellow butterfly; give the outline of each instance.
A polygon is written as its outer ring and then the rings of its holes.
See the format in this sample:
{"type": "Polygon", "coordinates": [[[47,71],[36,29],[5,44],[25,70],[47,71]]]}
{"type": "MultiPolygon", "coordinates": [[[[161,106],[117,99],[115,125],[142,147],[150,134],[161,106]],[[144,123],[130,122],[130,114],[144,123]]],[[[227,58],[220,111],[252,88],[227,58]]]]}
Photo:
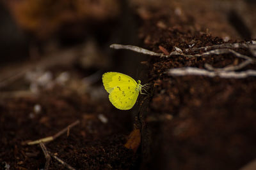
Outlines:
{"type": "Polygon", "coordinates": [[[110,92],[109,101],[120,110],[129,110],[136,103],[138,95],[136,86],[121,84],[110,92]]]}

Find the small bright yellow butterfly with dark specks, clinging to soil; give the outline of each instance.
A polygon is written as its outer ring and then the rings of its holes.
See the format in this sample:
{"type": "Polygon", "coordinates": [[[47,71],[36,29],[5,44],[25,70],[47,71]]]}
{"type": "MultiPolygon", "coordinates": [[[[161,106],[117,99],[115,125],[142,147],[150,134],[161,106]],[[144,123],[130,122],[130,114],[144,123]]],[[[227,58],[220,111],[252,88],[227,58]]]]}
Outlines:
{"type": "Polygon", "coordinates": [[[130,76],[117,72],[107,72],[102,75],[105,89],[109,93],[109,101],[120,110],[131,109],[141,92],[141,81],[135,81],[130,76]]]}

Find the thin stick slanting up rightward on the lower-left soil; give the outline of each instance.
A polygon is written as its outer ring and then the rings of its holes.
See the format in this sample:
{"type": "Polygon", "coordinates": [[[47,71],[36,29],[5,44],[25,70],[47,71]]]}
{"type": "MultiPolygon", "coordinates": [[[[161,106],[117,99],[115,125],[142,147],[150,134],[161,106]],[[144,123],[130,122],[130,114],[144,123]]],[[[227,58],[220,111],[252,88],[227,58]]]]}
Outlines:
{"type": "Polygon", "coordinates": [[[54,134],[54,136],[48,136],[48,137],[46,137],[46,138],[38,139],[38,140],[36,140],[36,141],[30,141],[30,142],[28,142],[28,143],[26,143],[26,144],[28,144],[28,145],[35,145],[35,144],[38,144],[38,143],[40,143],[40,142],[45,143],[45,142],[53,141],[54,139],[56,139],[56,138],[58,138],[59,136],[61,136],[61,134],[63,134],[63,133],[65,133],[66,131],[68,131],[68,129],[74,127],[74,126],[77,125],[77,124],[79,124],[79,120],[77,120],[76,122],[74,122],[74,123],[68,125],[65,129],[62,129],[60,132],[54,134]]]}

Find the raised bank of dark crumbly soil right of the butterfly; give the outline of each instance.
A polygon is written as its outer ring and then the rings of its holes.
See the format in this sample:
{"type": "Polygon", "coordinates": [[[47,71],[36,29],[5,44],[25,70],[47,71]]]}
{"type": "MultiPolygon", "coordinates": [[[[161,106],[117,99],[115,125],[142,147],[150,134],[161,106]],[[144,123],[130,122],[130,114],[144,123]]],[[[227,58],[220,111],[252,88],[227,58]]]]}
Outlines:
{"type": "MultiPolygon", "coordinates": [[[[159,46],[172,52],[174,46],[185,51],[192,44],[196,48],[225,43],[221,38],[191,27],[196,24],[196,19],[189,23],[189,27],[187,22],[177,24],[179,18],[173,18],[174,13],[169,15],[171,19],[165,20],[165,25],[172,26],[168,29],[149,27],[159,20],[164,21],[161,15],[146,21],[141,28],[145,43],[155,52],[163,52],[159,46]]],[[[234,50],[251,55],[246,49],[234,50]]],[[[243,59],[232,54],[196,58],[179,55],[168,59],[150,57],[149,80],[154,83],[154,92],[145,120],[148,120],[148,131],[152,132],[152,141],[148,142],[152,152],[143,163],[143,169],[239,169],[255,159],[255,77],[236,80],[166,74],[174,67],[204,68],[206,63],[225,67],[241,61],[243,59]]],[[[255,69],[255,64],[242,70],[246,69],[255,69]]]]}

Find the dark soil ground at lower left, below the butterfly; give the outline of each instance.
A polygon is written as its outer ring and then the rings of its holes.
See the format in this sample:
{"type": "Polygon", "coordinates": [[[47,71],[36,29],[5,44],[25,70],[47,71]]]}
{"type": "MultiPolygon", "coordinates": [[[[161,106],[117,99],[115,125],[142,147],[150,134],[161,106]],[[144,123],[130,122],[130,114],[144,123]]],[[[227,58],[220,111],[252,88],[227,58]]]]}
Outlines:
{"type": "MultiPolygon", "coordinates": [[[[86,96],[63,95],[63,90],[59,87],[38,97],[3,101],[1,162],[8,162],[12,169],[44,168],[45,159],[40,147],[23,146],[22,142],[52,136],[80,120],[79,125],[70,129],[68,137],[67,133],[64,134],[47,144],[47,148],[78,169],[127,169],[134,166],[136,155],[124,147],[125,134],[131,131],[129,113],[119,114],[106,101],[95,105],[86,96]],[[34,113],[31,118],[35,104],[42,106],[42,112],[34,113]],[[100,122],[98,115],[102,113],[108,118],[108,124],[100,122]]],[[[54,162],[51,169],[60,167],[54,162]]]]}

